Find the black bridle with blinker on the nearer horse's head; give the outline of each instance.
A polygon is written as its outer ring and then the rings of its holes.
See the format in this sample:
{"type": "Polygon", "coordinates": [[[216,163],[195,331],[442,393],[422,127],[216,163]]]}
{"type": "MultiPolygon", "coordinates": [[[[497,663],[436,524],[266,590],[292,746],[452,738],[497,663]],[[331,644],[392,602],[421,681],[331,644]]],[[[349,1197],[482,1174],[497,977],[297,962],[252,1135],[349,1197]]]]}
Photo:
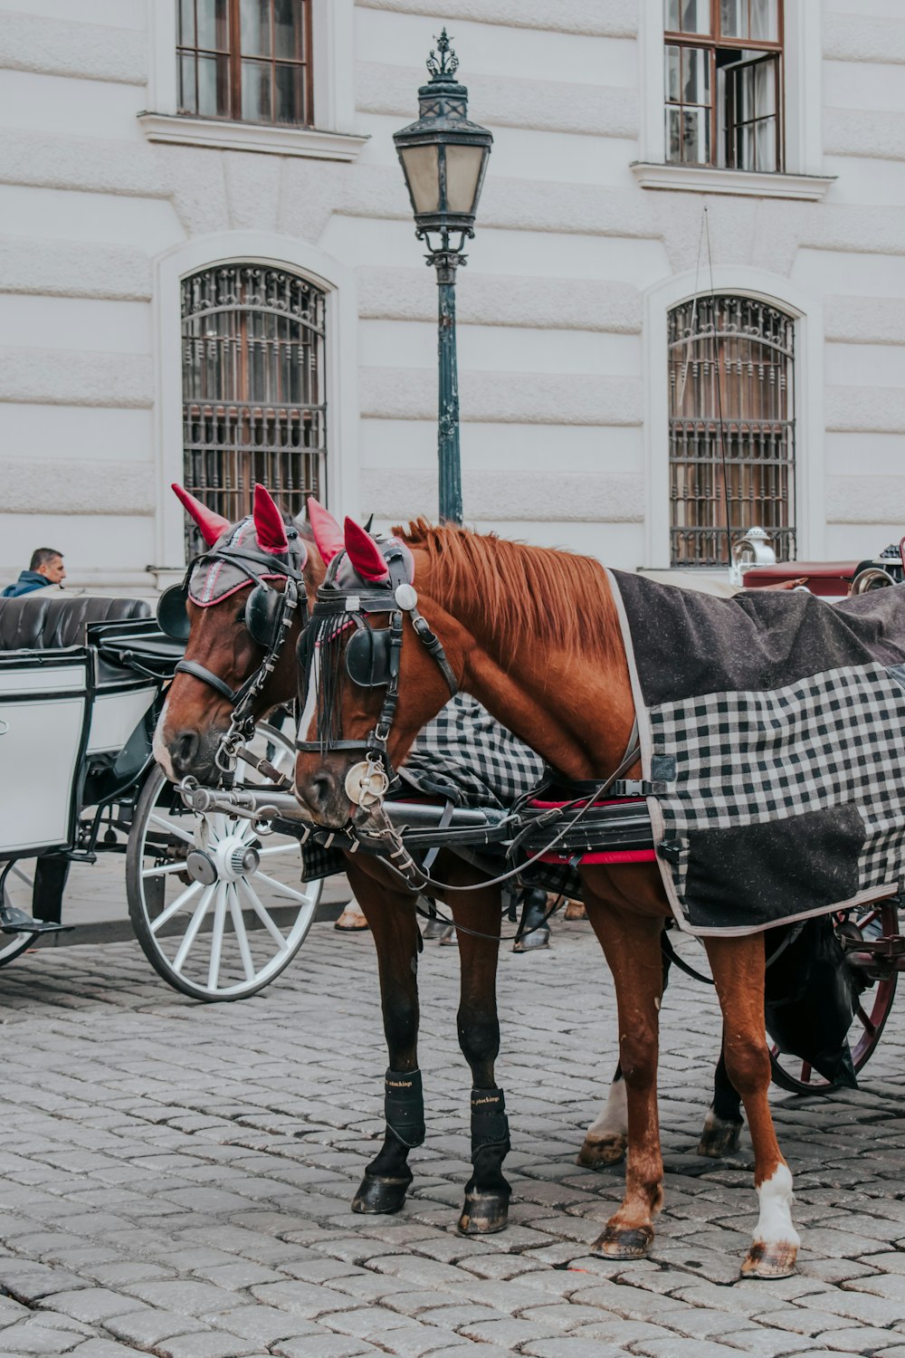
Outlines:
{"type": "MultiPolygon", "coordinates": [[[[399,661],[402,655],[403,622],[408,617],[415,636],[437,663],[449,695],[459,693],[459,680],[446,659],[442,642],[418,611],[418,592],[408,580],[406,558],[396,542],[384,543],[381,554],[389,579],[383,585],[364,584],[349,589],[336,583],[345,553],[330,562],[327,576],[317,589],[311,623],[300,638],[301,698],[308,691],[315,649],[326,641],[338,641],[350,626],[355,629],[346,644],[346,675],[361,689],[384,689],[384,701],[373,729],[360,740],[343,740],[331,732],[332,712],[319,702],[317,739],[296,740],[303,754],[327,754],[331,750],[361,750],[364,759],[349,769],[346,793],[358,807],[374,807],[383,801],[393,778],[388,741],[399,705],[399,661]],[[366,615],[388,612],[388,627],[370,627],[366,615]]],[[[301,703],[304,706],[304,702],[301,703]]],[[[301,732],[299,733],[301,736],[301,732]]]]}

